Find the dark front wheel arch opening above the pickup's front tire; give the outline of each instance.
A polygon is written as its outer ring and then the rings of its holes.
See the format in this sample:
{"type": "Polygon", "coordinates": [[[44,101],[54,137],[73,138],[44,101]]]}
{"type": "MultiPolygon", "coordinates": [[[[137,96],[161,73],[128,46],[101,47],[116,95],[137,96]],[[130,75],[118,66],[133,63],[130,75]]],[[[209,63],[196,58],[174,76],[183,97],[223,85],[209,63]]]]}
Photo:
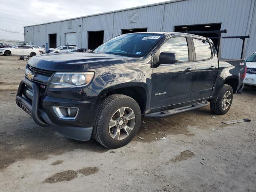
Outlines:
{"type": "Polygon", "coordinates": [[[134,83],[123,83],[116,86],[105,88],[100,92],[102,99],[112,94],[123,94],[133,98],[140,106],[142,114],[148,109],[149,92],[145,83],[134,82],[134,83]]]}

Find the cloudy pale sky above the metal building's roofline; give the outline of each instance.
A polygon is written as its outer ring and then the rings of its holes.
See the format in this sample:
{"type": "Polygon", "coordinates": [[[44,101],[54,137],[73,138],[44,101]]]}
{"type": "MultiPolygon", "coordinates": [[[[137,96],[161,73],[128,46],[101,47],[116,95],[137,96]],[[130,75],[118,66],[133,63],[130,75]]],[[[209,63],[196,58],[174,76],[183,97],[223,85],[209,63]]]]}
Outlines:
{"type": "Polygon", "coordinates": [[[0,39],[24,40],[23,26],[131,8],[165,0],[9,0],[1,3],[0,39]],[[20,32],[20,33],[11,33],[20,32]]]}

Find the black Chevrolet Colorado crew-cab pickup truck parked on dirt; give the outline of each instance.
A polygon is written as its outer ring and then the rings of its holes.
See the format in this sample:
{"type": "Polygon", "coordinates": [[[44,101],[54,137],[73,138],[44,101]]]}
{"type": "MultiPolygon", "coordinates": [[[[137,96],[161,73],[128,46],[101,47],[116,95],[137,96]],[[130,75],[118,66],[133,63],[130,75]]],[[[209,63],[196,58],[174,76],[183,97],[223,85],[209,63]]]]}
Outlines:
{"type": "Polygon", "coordinates": [[[212,41],[174,32],[117,36],[90,53],[34,56],[16,104],[40,126],[107,148],[128,144],[145,118],[230,109],[244,60],[218,60],[212,41]]]}

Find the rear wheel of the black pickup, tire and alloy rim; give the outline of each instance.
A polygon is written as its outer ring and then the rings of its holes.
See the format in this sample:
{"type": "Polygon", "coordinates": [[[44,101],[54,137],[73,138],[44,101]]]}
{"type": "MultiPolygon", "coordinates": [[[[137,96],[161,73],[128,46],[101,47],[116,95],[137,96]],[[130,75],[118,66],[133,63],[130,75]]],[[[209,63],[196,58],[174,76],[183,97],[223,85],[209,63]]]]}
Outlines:
{"type": "Polygon", "coordinates": [[[224,115],[230,109],[233,101],[233,89],[230,85],[224,84],[220,90],[216,103],[210,102],[210,109],[213,113],[224,115]]]}

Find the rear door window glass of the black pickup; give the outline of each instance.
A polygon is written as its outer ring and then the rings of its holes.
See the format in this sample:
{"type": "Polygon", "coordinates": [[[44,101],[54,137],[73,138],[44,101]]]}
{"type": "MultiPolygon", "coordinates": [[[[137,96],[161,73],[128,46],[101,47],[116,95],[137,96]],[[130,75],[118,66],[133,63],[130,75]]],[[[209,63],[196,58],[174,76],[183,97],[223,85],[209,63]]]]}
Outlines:
{"type": "Polygon", "coordinates": [[[212,50],[208,41],[193,38],[193,42],[196,52],[196,60],[209,59],[212,57],[212,50]]]}

